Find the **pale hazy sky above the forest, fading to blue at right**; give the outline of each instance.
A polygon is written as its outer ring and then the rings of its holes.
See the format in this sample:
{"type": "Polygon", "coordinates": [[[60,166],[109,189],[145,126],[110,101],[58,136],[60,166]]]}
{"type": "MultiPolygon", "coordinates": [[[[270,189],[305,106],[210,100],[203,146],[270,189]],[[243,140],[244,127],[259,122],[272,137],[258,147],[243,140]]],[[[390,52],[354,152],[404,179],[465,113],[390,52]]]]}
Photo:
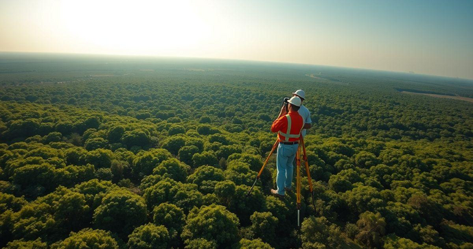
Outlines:
{"type": "Polygon", "coordinates": [[[0,0],[0,51],[266,60],[473,79],[473,1],[0,0]]]}

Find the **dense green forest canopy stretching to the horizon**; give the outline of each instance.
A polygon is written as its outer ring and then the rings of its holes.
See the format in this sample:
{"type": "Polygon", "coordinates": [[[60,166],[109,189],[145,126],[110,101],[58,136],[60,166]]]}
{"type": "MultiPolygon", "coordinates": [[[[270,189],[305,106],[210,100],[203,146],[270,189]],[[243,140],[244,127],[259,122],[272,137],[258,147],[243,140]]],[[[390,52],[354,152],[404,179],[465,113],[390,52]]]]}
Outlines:
{"type": "MultiPolygon", "coordinates": [[[[470,80],[298,64],[0,54],[0,247],[473,248],[470,80]],[[315,205],[270,195],[303,89],[315,205]]],[[[295,184],[295,183],[294,183],[295,184]]]]}

